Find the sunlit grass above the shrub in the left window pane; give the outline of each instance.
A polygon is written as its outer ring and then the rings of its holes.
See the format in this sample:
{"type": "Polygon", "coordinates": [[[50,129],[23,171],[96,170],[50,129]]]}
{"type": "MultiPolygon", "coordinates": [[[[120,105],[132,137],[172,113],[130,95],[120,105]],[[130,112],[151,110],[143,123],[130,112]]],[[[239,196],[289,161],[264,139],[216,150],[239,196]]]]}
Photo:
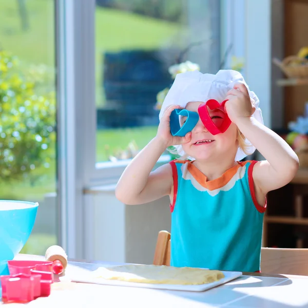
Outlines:
{"type": "Polygon", "coordinates": [[[0,1],[0,46],[29,64],[55,65],[52,0],[26,1],[29,29],[23,31],[17,1],[0,1]]]}

